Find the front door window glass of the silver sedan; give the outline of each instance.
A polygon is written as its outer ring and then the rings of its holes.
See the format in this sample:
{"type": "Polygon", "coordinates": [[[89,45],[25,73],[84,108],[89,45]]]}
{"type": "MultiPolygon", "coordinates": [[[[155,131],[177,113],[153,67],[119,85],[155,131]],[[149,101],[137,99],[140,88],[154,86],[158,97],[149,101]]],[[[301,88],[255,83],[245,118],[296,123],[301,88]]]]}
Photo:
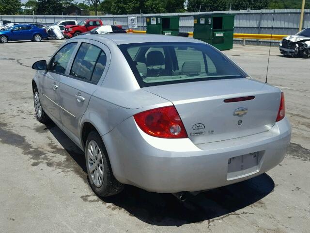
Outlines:
{"type": "Polygon", "coordinates": [[[62,49],[59,50],[53,57],[49,66],[49,70],[64,74],[68,66],[70,57],[76,46],[77,43],[75,42],[67,44],[64,47],[62,47],[62,49]]]}

